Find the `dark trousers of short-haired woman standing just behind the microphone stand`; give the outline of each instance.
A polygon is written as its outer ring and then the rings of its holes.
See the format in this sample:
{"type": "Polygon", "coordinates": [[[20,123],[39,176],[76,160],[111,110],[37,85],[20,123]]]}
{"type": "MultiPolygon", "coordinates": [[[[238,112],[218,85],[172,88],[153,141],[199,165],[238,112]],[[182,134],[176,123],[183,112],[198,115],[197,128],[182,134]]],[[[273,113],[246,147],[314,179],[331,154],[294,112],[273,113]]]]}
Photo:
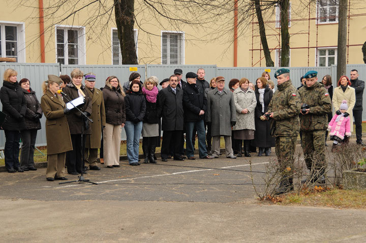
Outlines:
{"type": "Polygon", "coordinates": [[[82,160],[82,155],[84,153],[84,147],[85,147],[85,135],[71,134],[71,142],[73,145],[73,150],[66,152],[68,173],[71,172],[81,173],[81,170],[84,170],[84,162],[82,160]],[[81,144],[81,136],[83,136],[83,144],[81,144]]]}

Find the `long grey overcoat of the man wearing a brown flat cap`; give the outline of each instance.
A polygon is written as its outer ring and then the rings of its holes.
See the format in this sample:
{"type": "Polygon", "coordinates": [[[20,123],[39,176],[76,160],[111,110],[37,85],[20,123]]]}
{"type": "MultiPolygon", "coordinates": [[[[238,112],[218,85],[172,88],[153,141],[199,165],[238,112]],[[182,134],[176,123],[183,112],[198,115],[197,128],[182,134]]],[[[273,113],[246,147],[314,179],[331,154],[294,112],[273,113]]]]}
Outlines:
{"type": "Polygon", "coordinates": [[[217,88],[207,93],[206,121],[211,122],[211,136],[231,136],[231,121],[236,121],[233,93],[217,88]]]}

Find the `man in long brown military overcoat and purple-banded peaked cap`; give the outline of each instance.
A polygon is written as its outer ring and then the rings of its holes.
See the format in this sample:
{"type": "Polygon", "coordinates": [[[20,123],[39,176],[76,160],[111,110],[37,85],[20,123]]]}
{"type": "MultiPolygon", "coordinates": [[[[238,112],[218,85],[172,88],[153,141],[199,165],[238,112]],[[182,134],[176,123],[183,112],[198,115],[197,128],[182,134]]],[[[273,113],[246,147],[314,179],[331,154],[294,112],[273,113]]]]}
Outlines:
{"type": "Polygon", "coordinates": [[[98,148],[101,147],[102,129],[105,127],[106,116],[102,90],[95,87],[97,81],[94,73],[84,75],[86,92],[92,99],[92,115],[90,124],[92,133],[85,136],[84,166],[90,170],[100,170],[97,165],[98,148]]]}

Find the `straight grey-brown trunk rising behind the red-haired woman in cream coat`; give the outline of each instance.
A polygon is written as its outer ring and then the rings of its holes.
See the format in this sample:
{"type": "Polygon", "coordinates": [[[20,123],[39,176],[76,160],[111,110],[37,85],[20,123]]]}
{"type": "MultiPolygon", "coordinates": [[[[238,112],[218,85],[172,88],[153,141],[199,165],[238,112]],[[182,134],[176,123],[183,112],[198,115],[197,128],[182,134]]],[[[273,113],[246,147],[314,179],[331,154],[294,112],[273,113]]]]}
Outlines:
{"type": "Polygon", "coordinates": [[[337,80],[346,75],[347,57],[347,0],[339,0],[338,10],[338,48],[337,48],[337,80]]]}

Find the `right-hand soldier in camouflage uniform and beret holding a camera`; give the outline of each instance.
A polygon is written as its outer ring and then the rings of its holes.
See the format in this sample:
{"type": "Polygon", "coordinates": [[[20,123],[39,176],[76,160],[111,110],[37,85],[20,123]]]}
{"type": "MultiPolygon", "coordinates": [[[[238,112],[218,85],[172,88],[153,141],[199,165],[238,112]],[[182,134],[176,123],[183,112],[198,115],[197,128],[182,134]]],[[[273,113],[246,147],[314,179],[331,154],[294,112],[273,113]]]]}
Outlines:
{"type": "MultiPolygon", "coordinates": [[[[310,180],[325,183],[325,131],[328,126],[327,113],[331,112],[331,101],[322,83],[317,82],[317,72],[304,75],[305,85],[299,88],[301,98],[300,130],[305,163],[312,172],[310,180]],[[304,105],[309,108],[305,108],[304,105]]],[[[303,180],[302,182],[305,182],[303,180]]]]}

